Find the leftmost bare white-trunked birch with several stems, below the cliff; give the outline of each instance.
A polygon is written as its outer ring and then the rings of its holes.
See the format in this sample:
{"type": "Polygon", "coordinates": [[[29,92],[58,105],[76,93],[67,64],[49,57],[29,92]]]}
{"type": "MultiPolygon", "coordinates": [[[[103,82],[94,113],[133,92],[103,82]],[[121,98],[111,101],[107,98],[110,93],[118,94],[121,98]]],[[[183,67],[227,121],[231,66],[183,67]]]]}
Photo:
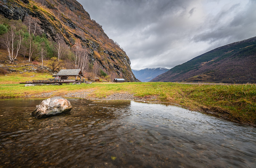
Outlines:
{"type": "Polygon", "coordinates": [[[14,26],[11,26],[11,31],[10,33],[7,33],[7,39],[6,39],[6,42],[5,42],[5,46],[7,48],[7,51],[8,51],[8,56],[9,56],[9,59],[11,62],[13,62],[17,56],[18,56],[18,53],[19,53],[19,50],[20,50],[20,42],[21,42],[21,34],[20,34],[20,30],[18,31],[18,38],[17,38],[17,46],[15,47],[15,27],[14,26]],[[10,37],[9,37],[10,35],[10,37]],[[16,55],[13,54],[14,50],[16,51],[16,55]]]}

